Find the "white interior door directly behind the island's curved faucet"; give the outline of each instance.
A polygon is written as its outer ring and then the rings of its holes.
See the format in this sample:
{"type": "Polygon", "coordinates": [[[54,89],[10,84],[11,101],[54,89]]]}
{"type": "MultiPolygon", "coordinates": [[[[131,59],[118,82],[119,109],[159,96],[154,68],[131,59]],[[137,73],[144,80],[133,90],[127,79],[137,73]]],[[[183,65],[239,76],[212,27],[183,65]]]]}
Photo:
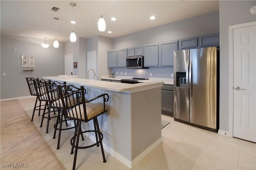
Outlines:
{"type": "Polygon", "coordinates": [[[88,79],[97,80],[97,64],[96,64],[96,51],[87,52],[87,71],[93,69],[96,73],[96,76],[93,75],[93,71],[89,71],[88,79]]]}

